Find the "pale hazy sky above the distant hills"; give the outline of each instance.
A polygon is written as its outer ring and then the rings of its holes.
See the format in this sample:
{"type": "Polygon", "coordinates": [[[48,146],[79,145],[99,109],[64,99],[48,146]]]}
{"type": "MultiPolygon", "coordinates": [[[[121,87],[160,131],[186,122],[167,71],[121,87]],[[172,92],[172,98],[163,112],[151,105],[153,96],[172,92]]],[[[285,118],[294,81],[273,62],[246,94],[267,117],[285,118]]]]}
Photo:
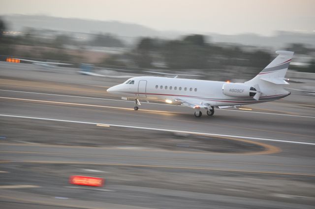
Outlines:
{"type": "Polygon", "coordinates": [[[315,0],[1,0],[3,14],[116,20],[156,30],[315,34],[315,0]]]}

